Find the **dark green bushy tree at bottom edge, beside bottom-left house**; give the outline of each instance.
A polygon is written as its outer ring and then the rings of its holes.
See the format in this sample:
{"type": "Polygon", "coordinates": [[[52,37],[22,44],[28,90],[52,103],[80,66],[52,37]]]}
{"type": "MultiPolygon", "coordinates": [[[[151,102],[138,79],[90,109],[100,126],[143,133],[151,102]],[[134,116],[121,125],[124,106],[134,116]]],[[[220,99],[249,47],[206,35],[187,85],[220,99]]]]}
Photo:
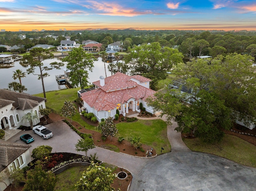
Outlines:
{"type": "Polygon", "coordinates": [[[38,161],[35,168],[27,172],[25,182],[23,191],[52,191],[56,184],[56,177],[51,171],[44,171],[38,161]]]}

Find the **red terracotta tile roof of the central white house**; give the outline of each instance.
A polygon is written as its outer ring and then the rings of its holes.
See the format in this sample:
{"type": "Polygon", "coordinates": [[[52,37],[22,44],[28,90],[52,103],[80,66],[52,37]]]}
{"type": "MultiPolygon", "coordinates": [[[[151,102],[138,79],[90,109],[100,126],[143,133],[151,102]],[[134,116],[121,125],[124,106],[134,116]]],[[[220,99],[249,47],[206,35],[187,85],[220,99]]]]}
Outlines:
{"type": "MultiPolygon", "coordinates": [[[[96,110],[112,110],[118,103],[125,103],[130,98],[136,100],[145,100],[148,96],[153,96],[155,91],[138,85],[134,81],[129,81],[130,76],[117,72],[113,76],[106,77],[105,85],[100,86],[100,81],[94,82],[94,85],[100,87],[98,89],[84,92],[81,94],[81,98],[90,106],[96,110]],[[127,88],[129,86],[130,88],[127,88]],[[117,88],[118,87],[118,88],[117,88]],[[124,88],[122,88],[124,87],[124,88]],[[116,91],[109,90],[120,89],[116,91]]],[[[136,75],[136,78],[140,80],[146,80],[147,78],[140,78],[136,75]]],[[[147,81],[150,81],[147,79],[147,81]]],[[[143,81],[144,82],[144,81],[143,81]]]]}

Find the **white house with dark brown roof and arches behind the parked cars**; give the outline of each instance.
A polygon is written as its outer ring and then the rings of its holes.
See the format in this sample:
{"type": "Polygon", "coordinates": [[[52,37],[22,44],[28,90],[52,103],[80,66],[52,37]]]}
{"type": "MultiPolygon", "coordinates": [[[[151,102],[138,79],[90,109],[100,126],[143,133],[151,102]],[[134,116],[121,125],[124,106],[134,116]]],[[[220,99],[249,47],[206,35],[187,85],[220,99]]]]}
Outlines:
{"type": "Polygon", "coordinates": [[[30,126],[28,121],[22,121],[22,117],[27,113],[38,116],[33,120],[33,125],[38,124],[42,117],[39,110],[46,108],[45,101],[46,98],[0,89],[0,129],[7,132],[6,136],[12,136],[13,129],[21,125],[30,126]]]}

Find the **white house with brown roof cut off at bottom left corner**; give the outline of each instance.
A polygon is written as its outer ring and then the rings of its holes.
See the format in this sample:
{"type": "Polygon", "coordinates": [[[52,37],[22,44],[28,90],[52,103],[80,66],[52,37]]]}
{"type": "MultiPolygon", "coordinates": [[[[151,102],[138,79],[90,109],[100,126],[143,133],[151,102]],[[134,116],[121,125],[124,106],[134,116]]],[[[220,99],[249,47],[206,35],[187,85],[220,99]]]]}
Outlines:
{"type": "Polygon", "coordinates": [[[4,177],[4,182],[0,182],[0,191],[4,191],[6,185],[12,183],[9,179],[12,169],[22,169],[31,162],[30,147],[31,145],[0,143],[0,176],[4,177]]]}

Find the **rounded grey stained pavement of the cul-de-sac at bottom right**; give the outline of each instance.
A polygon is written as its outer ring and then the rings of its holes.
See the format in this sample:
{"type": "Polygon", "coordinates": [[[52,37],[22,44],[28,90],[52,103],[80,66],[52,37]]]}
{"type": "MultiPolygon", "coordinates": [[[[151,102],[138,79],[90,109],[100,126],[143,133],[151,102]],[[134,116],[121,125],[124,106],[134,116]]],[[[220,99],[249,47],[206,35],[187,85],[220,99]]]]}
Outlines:
{"type": "Polygon", "coordinates": [[[198,152],[171,152],[146,163],[130,191],[255,191],[256,168],[198,152]]]}

